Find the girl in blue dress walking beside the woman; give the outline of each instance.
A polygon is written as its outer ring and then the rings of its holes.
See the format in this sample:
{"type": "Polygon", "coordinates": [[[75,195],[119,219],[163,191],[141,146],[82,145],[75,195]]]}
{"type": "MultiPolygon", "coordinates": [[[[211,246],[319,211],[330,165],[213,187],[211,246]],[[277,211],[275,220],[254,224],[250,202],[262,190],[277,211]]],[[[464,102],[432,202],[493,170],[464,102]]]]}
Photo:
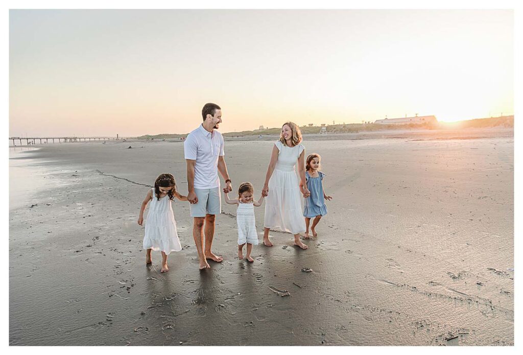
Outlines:
{"type": "MultiPolygon", "coordinates": [[[[312,221],[311,232],[313,236],[317,236],[315,227],[320,222],[321,218],[327,214],[327,206],[325,205],[325,200],[332,200],[331,196],[327,196],[325,190],[323,189],[323,178],[325,174],[320,171],[321,168],[321,156],[320,154],[310,154],[307,157],[305,164],[305,182],[307,189],[311,192],[311,196],[305,199],[305,205],[303,207],[303,216],[305,217],[305,239],[309,239],[309,224],[311,218],[314,218],[312,221]]],[[[304,185],[300,181],[300,190],[303,192],[304,185]]]]}

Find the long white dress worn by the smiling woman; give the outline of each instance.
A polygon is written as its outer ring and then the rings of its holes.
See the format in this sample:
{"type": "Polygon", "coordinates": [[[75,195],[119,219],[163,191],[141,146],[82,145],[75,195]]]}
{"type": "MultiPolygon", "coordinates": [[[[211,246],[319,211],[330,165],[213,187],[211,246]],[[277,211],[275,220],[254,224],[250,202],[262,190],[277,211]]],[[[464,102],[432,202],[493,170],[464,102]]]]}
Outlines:
{"type": "Polygon", "coordinates": [[[292,234],[305,232],[301,208],[300,186],[295,165],[305,149],[302,144],[291,147],[275,143],[278,162],[269,179],[269,194],[265,200],[265,227],[292,234]]]}

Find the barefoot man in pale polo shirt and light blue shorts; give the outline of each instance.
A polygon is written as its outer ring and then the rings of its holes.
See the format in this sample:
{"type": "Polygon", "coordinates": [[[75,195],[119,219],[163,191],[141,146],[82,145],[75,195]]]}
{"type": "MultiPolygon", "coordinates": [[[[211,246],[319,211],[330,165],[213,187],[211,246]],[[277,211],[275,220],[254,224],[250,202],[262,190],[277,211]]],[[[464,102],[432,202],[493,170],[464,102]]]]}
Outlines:
{"type": "Polygon", "coordinates": [[[195,239],[200,269],[210,268],[207,259],[221,262],[221,256],[211,251],[214,236],[214,219],[221,213],[220,178],[225,179],[225,189],[232,190],[223,152],[223,136],[217,131],[222,122],[222,110],[216,104],[205,104],[201,110],[203,123],[189,133],[184,142],[187,161],[187,200],[191,217],[194,217],[192,236],[195,239]],[[205,228],[203,225],[205,224],[205,228]],[[203,244],[205,230],[205,244],[203,244]]]}

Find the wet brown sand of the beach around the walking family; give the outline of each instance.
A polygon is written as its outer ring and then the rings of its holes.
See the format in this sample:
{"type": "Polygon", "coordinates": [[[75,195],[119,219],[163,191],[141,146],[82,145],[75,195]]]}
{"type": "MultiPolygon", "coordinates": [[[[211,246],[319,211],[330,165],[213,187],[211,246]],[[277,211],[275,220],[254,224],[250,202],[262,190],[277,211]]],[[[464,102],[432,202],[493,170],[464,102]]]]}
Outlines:
{"type": "MultiPolygon", "coordinates": [[[[145,265],[136,222],[159,173],[187,193],[181,142],[25,152],[44,186],[10,208],[9,344],[514,345],[514,139],[492,132],[305,136],[334,198],[309,249],[271,233],[238,260],[222,203],[224,261],[204,272],[188,203],[173,203],[184,248],[167,273],[159,252],[145,265]]],[[[259,196],[272,144],[226,142],[234,189],[259,196]]]]}

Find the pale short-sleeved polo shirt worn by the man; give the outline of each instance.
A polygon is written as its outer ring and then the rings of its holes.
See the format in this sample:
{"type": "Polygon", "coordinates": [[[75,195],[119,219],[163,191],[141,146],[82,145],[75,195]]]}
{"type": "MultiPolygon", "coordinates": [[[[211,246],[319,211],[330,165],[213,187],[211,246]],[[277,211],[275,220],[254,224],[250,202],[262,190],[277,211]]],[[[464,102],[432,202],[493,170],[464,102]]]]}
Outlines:
{"type": "Polygon", "coordinates": [[[184,142],[186,159],[195,160],[195,189],[214,189],[220,187],[218,177],[218,157],[223,152],[223,136],[217,130],[212,133],[200,127],[189,133],[184,142]]]}

